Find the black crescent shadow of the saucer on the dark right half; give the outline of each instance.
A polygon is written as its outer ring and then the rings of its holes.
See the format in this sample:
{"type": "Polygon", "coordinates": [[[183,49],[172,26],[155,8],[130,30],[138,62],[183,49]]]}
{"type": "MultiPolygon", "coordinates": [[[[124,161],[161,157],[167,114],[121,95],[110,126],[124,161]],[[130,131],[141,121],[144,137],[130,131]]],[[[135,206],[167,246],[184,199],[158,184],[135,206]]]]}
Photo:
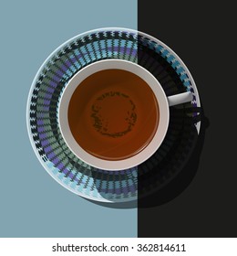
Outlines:
{"type": "MultiPolygon", "coordinates": [[[[143,180],[143,176],[139,176],[138,208],[153,208],[166,204],[175,197],[178,197],[191,184],[191,181],[198,170],[201,150],[205,139],[205,130],[209,127],[209,125],[209,120],[207,117],[205,117],[202,108],[200,133],[197,133],[194,125],[191,126],[190,130],[190,133],[193,135],[192,141],[195,145],[193,146],[193,148],[191,148],[190,154],[186,155],[186,159],[183,160],[180,168],[176,170],[175,173],[169,175],[169,178],[167,178],[167,182],[164,182],[164,184],[160,184],[160,186],[154,185],[153,189],[149,190],[149,192],[144,196],[144,184],[146,187],[146,184],[148,184],[148,182],[143,180]]],[[[149,180],[151,180],[152,178],[153,180],[163,179],[162,174],[159,175],[160,166],[162,168],[162,165],[153,167],[153,173],[151,172],[151,174],[148,174],[149,180]]],[[[147,176],[146,179],[148,179],[147,176]]],[[[166,179],[166,177],[164,179],[166,179]]]]}

